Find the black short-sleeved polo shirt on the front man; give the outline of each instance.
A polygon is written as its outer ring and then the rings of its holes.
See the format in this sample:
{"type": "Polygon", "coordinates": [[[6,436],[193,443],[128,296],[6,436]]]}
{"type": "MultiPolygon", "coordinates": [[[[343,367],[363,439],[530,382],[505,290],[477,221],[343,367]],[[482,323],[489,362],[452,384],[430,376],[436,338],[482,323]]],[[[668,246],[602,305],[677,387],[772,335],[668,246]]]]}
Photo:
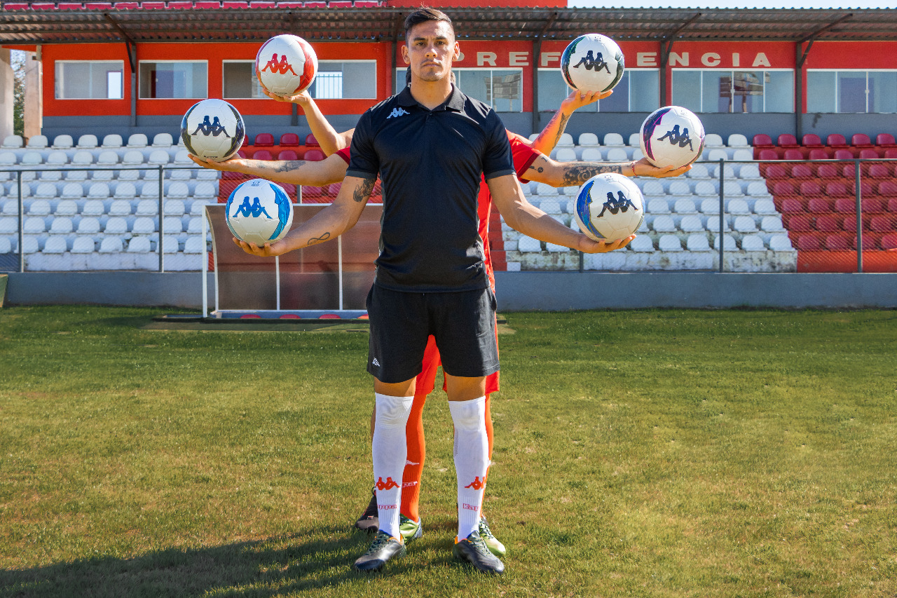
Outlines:
{"type": "Polygon", "coordinates": [[[428,110],[405,87],[355,126],[346,176],[378,173],[383,217],[375,284],[415,292],[488,286],[477,232],[480,177],[514,174],[495,110],[457,87],[428,110]]]}

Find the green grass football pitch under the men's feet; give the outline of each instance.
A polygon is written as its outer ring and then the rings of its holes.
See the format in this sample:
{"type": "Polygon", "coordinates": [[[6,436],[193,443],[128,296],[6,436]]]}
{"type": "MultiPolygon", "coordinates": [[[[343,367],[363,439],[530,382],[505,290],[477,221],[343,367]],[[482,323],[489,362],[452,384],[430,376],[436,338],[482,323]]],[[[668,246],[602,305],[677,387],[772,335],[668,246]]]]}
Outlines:
{"type": "Polygon", "coordinates": [[[364,332],[0,311],[3,596],[893,596],[897,312],[507,313],[485,513],[450,556],[445,395],[424,536],[353,572],[364,332]]]}

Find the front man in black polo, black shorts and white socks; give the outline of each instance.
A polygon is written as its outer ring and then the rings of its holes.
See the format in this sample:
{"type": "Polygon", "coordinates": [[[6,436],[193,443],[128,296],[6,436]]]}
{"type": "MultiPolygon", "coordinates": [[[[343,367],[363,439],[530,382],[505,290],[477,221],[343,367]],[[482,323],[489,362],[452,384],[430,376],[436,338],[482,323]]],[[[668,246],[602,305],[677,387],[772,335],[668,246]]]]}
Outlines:
{"type": "Polygon", "coordinates": [[[501,573],[504,565],[477,532],[489,466],[486,377],[499,369],[495,298],[477,230],[481,174],[505,222],[528,236],[587,253],[613,251],[633,237],[594,242],[527,203],[501,119],[450,83],[460,48],[448,16],[431,8],[409,14],[402,55],[411,66],[411,85],[361,116],[334,203],[280,242],[263,248],[239,244],[269,256],[335,238],[355,224],[379,173],[384,202],[380,253],[368,296],[379,531],[355,567],[376,570],[405,554],[399,531],[405,424],[432,335],[455,426],[458,529],[453,553],[481,571],[501,573]]]}

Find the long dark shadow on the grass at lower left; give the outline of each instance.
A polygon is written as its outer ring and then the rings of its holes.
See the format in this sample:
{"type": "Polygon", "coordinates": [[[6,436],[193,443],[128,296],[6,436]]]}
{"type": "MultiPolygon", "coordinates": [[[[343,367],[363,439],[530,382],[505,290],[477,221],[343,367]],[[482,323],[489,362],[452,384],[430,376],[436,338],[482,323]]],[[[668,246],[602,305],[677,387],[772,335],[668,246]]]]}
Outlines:
{"type": "Polygon", "coordinates": [[[170,548],[135,558],[98,557],[0,570],[0,595],[266,597],[405,572],[405,559],[379,574],[355,571],[354,559],[369,541],[363,533],[322,526],[203,549],[170,548]]]}

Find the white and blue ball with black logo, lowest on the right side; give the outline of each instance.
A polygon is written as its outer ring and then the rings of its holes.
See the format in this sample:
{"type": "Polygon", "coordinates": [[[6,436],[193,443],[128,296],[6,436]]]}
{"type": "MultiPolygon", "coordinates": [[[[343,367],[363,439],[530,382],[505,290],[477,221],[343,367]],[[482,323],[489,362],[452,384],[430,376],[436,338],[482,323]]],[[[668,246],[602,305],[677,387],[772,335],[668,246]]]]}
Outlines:
{"type": "Polygon", "coordinates": [[[645,219],[645,198],[639,186],[622,174],[597,174],[579,188],[576,224],[595,241],[616,241],[639,230],[645,219]]]}

